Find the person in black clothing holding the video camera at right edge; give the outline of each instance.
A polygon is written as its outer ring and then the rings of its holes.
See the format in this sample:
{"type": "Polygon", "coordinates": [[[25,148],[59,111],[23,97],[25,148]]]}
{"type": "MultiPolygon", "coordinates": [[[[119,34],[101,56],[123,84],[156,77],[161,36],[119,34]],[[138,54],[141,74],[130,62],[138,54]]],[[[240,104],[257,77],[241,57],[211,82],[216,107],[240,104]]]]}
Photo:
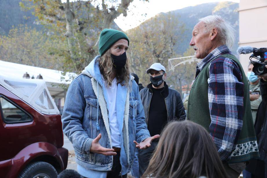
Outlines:
{"type": "MultiPolygon", "coordinates": [[[[267,68],[267,65],[265,66],[267,68]]],[[[267,74],[259,75],[262,102],[259,105],[255,121],[255,132],[259,148],[259,159],[250,159],[246,170],[251,173],[251,178],[267,178],[267,74]]]]}

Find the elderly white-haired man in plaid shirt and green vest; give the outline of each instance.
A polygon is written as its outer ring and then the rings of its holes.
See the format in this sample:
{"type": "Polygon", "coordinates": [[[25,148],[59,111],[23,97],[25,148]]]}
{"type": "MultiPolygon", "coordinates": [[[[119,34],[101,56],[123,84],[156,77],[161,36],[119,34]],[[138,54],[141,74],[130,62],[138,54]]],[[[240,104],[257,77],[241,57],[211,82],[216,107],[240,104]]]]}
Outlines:
{"type": "Polygon", "coordinates": [[[251,115],[249,86],[239,60],[229,48],[234,29],[217,15],[199,19],[192,31],[197,64],[188,98],[188,119],[210,133],[229,177],[239,177],[251,158],[259,157],[251,115]]]}

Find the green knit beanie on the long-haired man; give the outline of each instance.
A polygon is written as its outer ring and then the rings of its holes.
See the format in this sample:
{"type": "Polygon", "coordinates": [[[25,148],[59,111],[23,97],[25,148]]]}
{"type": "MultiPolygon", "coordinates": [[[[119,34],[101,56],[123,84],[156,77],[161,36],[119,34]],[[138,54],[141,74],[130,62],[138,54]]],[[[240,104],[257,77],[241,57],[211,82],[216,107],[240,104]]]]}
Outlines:
{"type": "Polygon", "coordinates": [[[114,43],[116,43],[119,39],[129,39],[127,35],[119,30],[107,29],[105,28],[100,33],[99,37],[99,53],[102,56],[114,43]]]}

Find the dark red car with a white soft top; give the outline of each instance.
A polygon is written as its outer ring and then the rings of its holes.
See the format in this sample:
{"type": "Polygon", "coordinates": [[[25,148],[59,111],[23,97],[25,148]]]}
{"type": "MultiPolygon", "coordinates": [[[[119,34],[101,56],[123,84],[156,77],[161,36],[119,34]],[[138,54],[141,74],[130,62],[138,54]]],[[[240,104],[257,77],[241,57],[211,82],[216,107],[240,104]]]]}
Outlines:
{"type": "Polygon", "coordinates": [[[67,167],[61,116],[40,79],[0,75],[0,177],[55,178],[67,167]]]}

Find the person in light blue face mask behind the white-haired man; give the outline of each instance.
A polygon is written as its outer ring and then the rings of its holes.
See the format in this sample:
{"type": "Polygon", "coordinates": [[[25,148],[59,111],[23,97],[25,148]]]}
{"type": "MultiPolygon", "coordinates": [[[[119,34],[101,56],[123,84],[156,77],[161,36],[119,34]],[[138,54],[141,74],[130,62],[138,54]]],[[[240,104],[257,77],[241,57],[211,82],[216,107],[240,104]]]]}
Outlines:
{"type": "Polygon", "coordinates": [[[248,66],[248,80],[249,80],[249,90],[250,90],[250,105],[252,111],[253,122],[255,123],[257,110],[259,104],[261,103],[260,90],[259,90],[259,77],[255,75],[252,71],[253,64],[250,63],[248,66]]]}

